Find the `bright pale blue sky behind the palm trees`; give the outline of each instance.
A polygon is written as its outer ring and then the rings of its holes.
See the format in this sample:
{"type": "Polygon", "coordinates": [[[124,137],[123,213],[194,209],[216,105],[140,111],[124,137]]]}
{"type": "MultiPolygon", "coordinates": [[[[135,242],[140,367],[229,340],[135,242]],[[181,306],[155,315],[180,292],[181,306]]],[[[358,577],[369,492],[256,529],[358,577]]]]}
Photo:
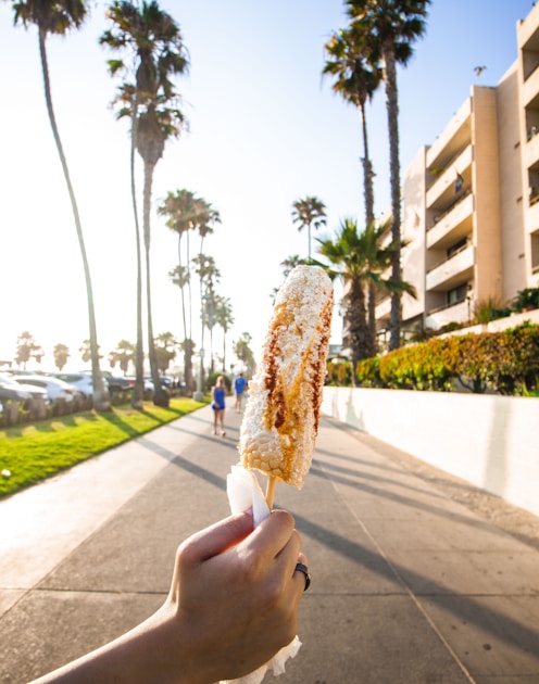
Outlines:
{"type": "MultiPolygon", "coordinates": [[[[306,231],[292,223],[292,203],[315,195],[327,207],[327,226],[313,235],[313,252],[314,238],[331,237],[342,219],[362,225],[359,113],[322,77],[324,45],[347,25],[344,4],[162,0],[161,7],[179,24],[190,58],[189,74],[176,80],[189,130],[167,143],[154,174],[153,328],[155,334],[184,337],[179,289],[168,277],[177,265],[177,236],[155,207],[168,191],[187,189],[222,219],[204,253],[215,258],[217,293],[233,307],[229,367],[233,342],[243,332],[259,357],[271,293],[283,282],[280,263],[293,254],[306,257],[306,231]]],[[[516,60],[516,22],[531,7],[531,0],[433,0],[426,35],[398,72],[402,173],[443,130],[471,86],[498,84],[516,60]],[[480,76],[476,66],[486,66],[480,76]]],[[[136,339],[136,256],[128,129],[110,107],[117,83],[106,71],[111,53],[98,45],[108,26],[104,9],[103,2],[92,4],[80,30],[50,37],[47,48],[90,264],[102,367],[109,369],[109,352],[121,340],[136,339]]],[[[13,359],[17,337],[28,331],[45,351],[40,368],[54,370],[52,350],[62,343],[72,354],[67,367],[80,369],[78,349],[89,337],[85,280],[45,105],[37,33],[14,27],[5,2],[0,3],[0,359],[13,359]]],[[[381,216],[390,202],[381,90],[367,109],[367,126],[381,216]]],[[[337,286],[333,343],[340,342],[339,295],[337,286]]],[[[195,312],[198,347],[199,328],[195,312]]],[[[214,347],[223,349],[218,328],[214,347]]]]}

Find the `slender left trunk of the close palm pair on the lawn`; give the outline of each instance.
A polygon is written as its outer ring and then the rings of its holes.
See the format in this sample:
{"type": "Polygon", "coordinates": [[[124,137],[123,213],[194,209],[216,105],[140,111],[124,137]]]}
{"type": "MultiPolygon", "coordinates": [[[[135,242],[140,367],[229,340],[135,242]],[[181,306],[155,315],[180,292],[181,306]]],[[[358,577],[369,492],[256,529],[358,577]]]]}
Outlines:
{"type": "MultiPolygon", "coordinates": [[[[137,98],[137,93],[135,94],[137,98]]],[[[142,255],[140,250],[140,226],[138,221],[137,193],[135,188],[135,150],[137,147],[137,99],[133,106],[131,114],[131,149],[130,149],[130,173],[131,173],[131,201],[133,215],[135,218],[135,239],[137,244],[137,345],[135,349],[135,388],[133,390],[131,406],[134,408],[143,407],[145,398],[145,345],[142,334],[142,255]]]]}

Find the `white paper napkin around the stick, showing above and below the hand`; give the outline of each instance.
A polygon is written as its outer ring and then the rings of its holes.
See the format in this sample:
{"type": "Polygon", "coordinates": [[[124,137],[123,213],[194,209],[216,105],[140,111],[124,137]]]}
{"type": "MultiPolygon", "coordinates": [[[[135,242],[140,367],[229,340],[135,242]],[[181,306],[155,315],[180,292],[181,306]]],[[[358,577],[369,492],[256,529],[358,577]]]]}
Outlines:
{"type": "MultiPolygon", "coordinates": [[[[270,515],[264,493],[256,480],[256,476],[251,470],[247,470],[242,466],[233,466],[230,474],[226,478],[226,491],[228,494],[228,503],[233,514],[243,512],[243,510],[252,509],[254,527],[259,525],[264,518],[270,515]]],[[[220,684],[260,684],[264,679],[267,670],[273,670],[275,676],[285,672],[285,663],[288,658],[293,658],[300,649],[301,642],[296,636],[288,646],[281,648],[270,662],[261,668],[246,674],[239,680],[223,680],[220,684]]]]}

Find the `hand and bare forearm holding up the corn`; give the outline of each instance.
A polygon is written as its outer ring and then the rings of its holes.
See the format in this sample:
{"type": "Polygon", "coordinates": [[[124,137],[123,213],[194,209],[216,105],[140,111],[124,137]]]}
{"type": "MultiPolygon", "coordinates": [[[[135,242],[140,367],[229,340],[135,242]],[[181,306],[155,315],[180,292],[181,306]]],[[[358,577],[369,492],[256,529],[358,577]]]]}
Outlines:
{"type": "Polygon", "coordinates": [[[39,684],[211,684],[256,670],[297,631],[305,586],[292,517],[249,514],[189,537],[176,554],[163,607],[117,639],[51,672],[39,684]]]}

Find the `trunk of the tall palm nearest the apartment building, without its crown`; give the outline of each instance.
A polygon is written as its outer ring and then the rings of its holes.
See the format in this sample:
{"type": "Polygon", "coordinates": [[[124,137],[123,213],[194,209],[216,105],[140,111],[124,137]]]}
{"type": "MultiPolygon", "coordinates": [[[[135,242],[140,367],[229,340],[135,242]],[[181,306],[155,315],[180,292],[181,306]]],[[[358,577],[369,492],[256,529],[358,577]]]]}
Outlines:
{"type": "MultiPolygon", "coordinates": [[[[397,245],[392,263],[391,278],[401,280],[401,182],[399,163],[399,104],[397,92],[397,68],[394,46],[383,46],[384,71],[386,83],[386,106],[389,128],[389,177],[391,186],[391,238],[397,245]]],[[[391,313],[389,316],[389,349],[399,349],[401,344],[401,295],[391,294],[391,313]]]]}

